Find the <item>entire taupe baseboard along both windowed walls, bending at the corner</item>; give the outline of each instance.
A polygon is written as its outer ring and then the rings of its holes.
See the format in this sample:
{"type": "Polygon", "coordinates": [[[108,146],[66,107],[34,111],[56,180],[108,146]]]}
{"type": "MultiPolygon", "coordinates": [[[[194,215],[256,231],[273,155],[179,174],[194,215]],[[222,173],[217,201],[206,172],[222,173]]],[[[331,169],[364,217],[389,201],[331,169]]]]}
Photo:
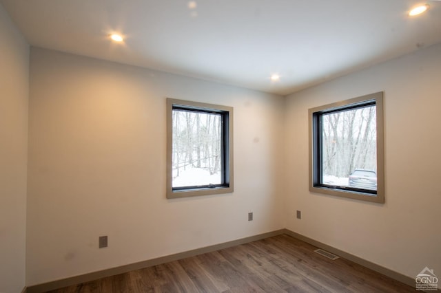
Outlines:
{"type": "Polygon", "coordinates": [[[107,276],[114,276],[116,274],[123,274],[125,272],[130,272],[132,270],[139,270],[142,268],[148,268],[153,265],[159,265],[162,263],[168,263],[170,261],[178,261],[179,259],[185,259],[187,257],[194,257],[198,254],[204,254],[207,252],[213,252],[216,250],[221,250],[224,248],[230,248],[233,246],[238,246],[241,244],[249,243],[252,241],[257,241],[260,239],[265,239],[269,237],[274,237],[277,235],[286,234],[291,237],[294,237],[296,239],[299,239],[301,241],[305,241],[306,243],[311,244],[312,246],[316,246],[317,248],[322,248],[324,250],[327,250],[329,252],[332,252],[334,254],[337,254],[339,257],[342,257],[343,259],[347,259],[349,261],[353,261],[354,263],[357,263],[359,265],[364,266],[365,268],[369,268],[371,270],[374,270],[376,272],[379,272],[380,274],[384,274],[384,276],[389,276],[391,279],[395,279],[396,281],[400,281],[404,284],[410,285],[412,287],[415,286],[415,279],[405,276],[404,274],[400,274],[399,272],[395,272],[393,270],[389,270],[388,268],[384,268],[381,265],[377,265],[376,263],[372,263],[371,261],[367,261],[365,259],[362,259],[360,257],[356,257],[353,254],[344,252],[342,250],[339,250],[338,248],[334,248],[332,246],[329,246],[325,243],[322,243],[320,241],[316,241],[314,239],[311,239],[309,237],[306,237],[304,235],[298,234],[297,232],[288,230],[288,229],[280,229],[275,230],[272,232],[267,232],[259,235],[254,235],[250,237],[245,237],[233,241],[228,241],[225,243],[219,243],[212,246],[206,246],[203,248],[197,248],[194,250],[189,250],[186,252],[179,252],[176,254],[170,254],[165,257],[158,257],[156,259],[149,259],[147,261],[140,261],[138,263],[132,263],[128,265],[121,265],[116,268],[110,268],[107,270],[101,270],[96,272],[91,272],[88,274],[81,274],[78,276],[72,276],[66,279],[59,279],[57,281],[50,281],[48,283],[41,283],[39,285],[32,285],[28,287],[24,287],[23,291],[21,293],[42,293],[50,290],[57,290],[62,287],[67,287],[70,285],[76,285],[79,283],[85,283],[88,281],[94,281],[96,279],[105,278],[107,276]]]}

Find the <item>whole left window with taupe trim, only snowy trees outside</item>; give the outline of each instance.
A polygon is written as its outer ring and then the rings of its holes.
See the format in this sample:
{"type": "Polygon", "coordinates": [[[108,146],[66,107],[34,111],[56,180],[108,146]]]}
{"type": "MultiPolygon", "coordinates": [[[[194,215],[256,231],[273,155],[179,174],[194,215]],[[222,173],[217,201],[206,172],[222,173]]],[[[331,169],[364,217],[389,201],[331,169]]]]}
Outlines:
{"type": "Polygon", "coordinates": [[[233,192],[233,108],[167,99],[167,198],[233,192]]]}

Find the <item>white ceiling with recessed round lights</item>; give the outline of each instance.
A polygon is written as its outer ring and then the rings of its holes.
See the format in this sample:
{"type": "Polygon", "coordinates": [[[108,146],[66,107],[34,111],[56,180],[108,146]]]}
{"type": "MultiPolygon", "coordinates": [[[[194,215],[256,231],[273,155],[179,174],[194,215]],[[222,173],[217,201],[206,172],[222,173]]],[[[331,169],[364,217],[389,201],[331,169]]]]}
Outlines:
{"type": "Polygon", "coordinates": [[[415,0],[0,3],[33,46],[280,95],[441,42],[441,1],[419,17],[415,0]]]}

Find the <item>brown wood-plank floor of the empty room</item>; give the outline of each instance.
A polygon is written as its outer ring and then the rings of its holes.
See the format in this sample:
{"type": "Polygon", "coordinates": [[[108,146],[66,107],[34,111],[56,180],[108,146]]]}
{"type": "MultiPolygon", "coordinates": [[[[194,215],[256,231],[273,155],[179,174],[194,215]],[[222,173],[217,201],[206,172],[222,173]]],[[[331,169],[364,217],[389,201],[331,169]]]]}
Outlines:
{"type": "Polygon", "coordinates": [[[278,235],[50,292],[416,292],[314,250],[308,243],[278,235]]]}

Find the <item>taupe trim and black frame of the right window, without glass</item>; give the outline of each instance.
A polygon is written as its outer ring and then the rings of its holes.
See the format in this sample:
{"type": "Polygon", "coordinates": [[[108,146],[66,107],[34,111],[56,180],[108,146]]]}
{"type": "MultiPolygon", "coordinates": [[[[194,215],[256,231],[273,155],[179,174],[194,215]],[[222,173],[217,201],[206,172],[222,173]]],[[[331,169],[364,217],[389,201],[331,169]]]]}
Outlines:
{"type": "Polygon", "coordinates": [[[340,102],[334,102],[329,105],[311,108],[308,110],[309,120],[309,191],[311,193],[322,193],[325,195],[334,195],[338,197],[347,197],[351,199],[359,199],[367,202],[384,203],[384,124],[383,124],[383,92],[351,98],[340,102]],[[333,188],[331,186],[323,186],[318,182],[318,162],[319,155],[318,137],[320,133],[316,131],[318,128],[315,124],[317,118],[323,113],[331,113],[338,109],[347,109],[360,105],[367,105],[372,102],[376,105],[376,127],[377,127],[377,191],[360,192],[346,188],[333,188]]]}

